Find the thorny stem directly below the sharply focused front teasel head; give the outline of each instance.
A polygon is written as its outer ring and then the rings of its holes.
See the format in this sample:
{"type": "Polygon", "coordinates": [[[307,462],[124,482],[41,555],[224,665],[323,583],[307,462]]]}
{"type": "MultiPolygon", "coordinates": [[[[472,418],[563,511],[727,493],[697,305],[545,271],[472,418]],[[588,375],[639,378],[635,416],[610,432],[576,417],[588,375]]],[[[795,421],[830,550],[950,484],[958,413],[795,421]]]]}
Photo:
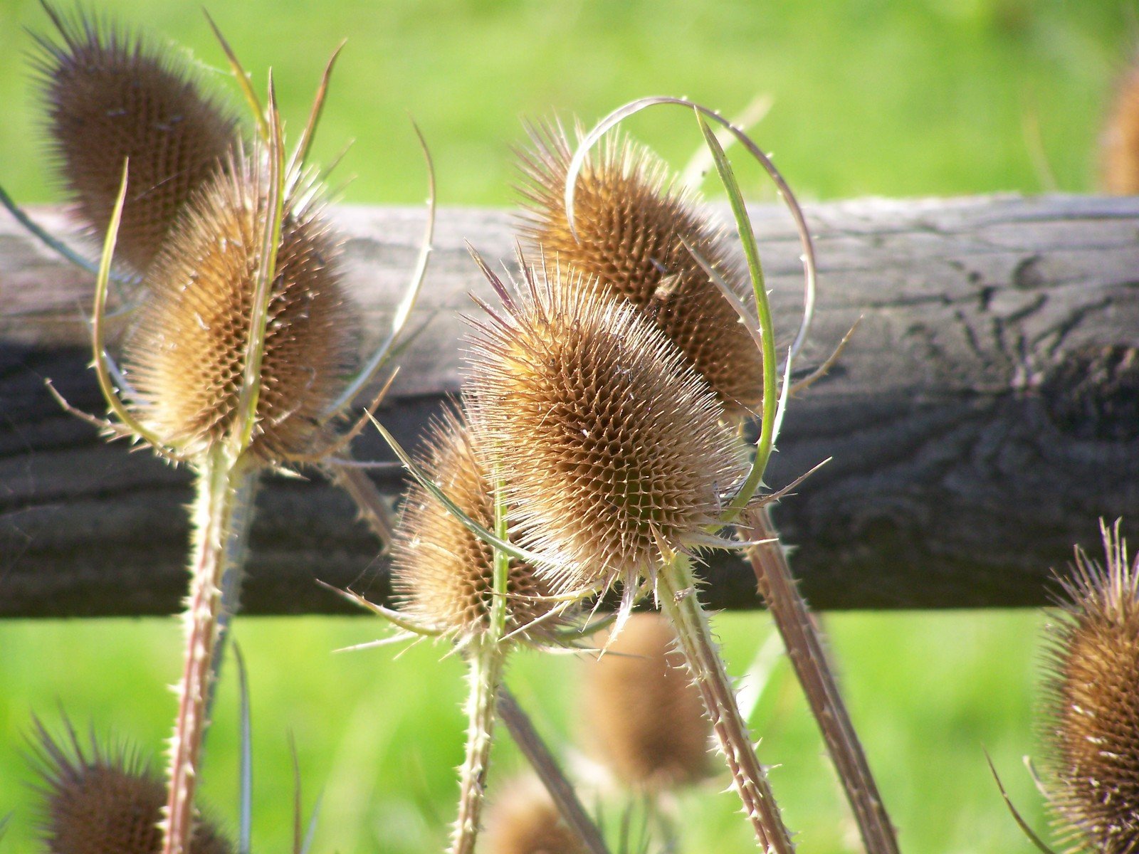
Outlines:
{"type": "Polygon", "coordinates": [[[716,741],[728,761],[732,782],[755,829],[756,840],[769,854],[790,854],[795,846],[755,755],[747,724],[736,703],[736,692],[712,639],[707,615],[696,596],[695,583],[689,558],[682,553],[673,557],[656,578],[661,609],[677,630],[680,650],[712,720],[716,741]]]}

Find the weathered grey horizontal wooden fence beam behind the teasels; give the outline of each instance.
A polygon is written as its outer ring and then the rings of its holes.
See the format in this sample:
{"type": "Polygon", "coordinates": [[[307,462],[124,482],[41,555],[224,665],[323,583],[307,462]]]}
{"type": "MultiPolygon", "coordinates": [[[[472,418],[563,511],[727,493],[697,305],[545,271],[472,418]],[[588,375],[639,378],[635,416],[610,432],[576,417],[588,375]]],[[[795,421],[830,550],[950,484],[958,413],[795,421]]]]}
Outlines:
{"type": "MultiPolygon", "coordinates": [[[[778,328],[797,322],[800,249],[776,206],[754,208],[778,328]]],[[[825,458],[777,508],[819,608],[1035,606],[1099,517],[1139,522],[1139,199],[857,200],[808,208],[821,270],[809,356],[859,317],[841,364],[792,402],[773,485],[825,458]]],[[[52,232],[57,211],[34,212],[52,232]]],[[[341,208],[366,326],[388,314],[423,212],[341,208]]],[[[509,258],[510,214],[439,220],[429,325],[403,355],[382,418],[412,444],[461,379],[467,257],[509,258]]],[[[81,312],[90,277],[0,217],[0,615],[166,614],[185,590],[188,476],[107,445],[63,413],[101,411],[81,312]]],[[[418,321],[418,319],[417,319],[418,321]]],[[[413,322],[417,322],[413,321],[413,322]]],[[[128,321],[122,321],[128,322],[128,321]]],[[[376,436],[361,459],[391,460],[376,436]]],[[[395,495],[400,476],[376,473],[395,495]]],[[[269,478],[252,534],[248,613],[349,611],[313,578],[383,599],[384,563],[319,475],[269,478]]],[[[716,607],[756,605],[751,570],[716,557],[716,607]]]]}

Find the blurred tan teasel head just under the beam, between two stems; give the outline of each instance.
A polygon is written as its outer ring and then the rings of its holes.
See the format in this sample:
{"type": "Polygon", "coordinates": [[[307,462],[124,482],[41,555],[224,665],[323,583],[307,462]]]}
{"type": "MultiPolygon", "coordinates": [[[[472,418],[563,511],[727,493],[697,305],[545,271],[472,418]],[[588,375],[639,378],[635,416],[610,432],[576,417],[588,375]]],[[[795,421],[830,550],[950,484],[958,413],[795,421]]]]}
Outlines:
{"type": "Polygon", "coordinates": [[[712,723],[675,642],[667,619],[634,614],[584,665],[582,721],[598,758],[633,789],[671,789],[712,770],[712,723]]]}

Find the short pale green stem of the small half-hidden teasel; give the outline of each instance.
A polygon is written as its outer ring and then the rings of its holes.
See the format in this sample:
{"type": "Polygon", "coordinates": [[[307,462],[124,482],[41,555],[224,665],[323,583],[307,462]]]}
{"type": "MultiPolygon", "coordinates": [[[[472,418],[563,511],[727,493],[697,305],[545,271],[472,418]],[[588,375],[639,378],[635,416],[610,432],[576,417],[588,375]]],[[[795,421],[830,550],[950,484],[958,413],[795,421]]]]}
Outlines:
{"type": "Polygon", "coordinates": [[[475,851],[503,664],[503,650],[498,639],[478,638],[472,642],[467,656],[470,683],[470,693],[467,695],[467,753],[459,769],[459,814],[451,832],[451,854],[473,854],[475,851]]]}

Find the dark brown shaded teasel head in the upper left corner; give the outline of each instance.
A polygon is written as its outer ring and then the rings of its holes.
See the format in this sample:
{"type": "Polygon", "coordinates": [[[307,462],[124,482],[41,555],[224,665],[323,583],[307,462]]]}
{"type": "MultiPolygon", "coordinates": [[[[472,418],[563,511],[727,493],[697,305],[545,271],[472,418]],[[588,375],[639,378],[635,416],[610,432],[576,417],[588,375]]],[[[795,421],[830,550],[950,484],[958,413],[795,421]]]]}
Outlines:
{"type": "Polygon", "coordinates": [[[221,166],[237,122],[171,49],[81,11],[71,20],[48,14],[63,44],[39,36],[36,69],[59,172],[101,239],[130,158],[117,254],[145,272],[182,206],[221,166]]]}

